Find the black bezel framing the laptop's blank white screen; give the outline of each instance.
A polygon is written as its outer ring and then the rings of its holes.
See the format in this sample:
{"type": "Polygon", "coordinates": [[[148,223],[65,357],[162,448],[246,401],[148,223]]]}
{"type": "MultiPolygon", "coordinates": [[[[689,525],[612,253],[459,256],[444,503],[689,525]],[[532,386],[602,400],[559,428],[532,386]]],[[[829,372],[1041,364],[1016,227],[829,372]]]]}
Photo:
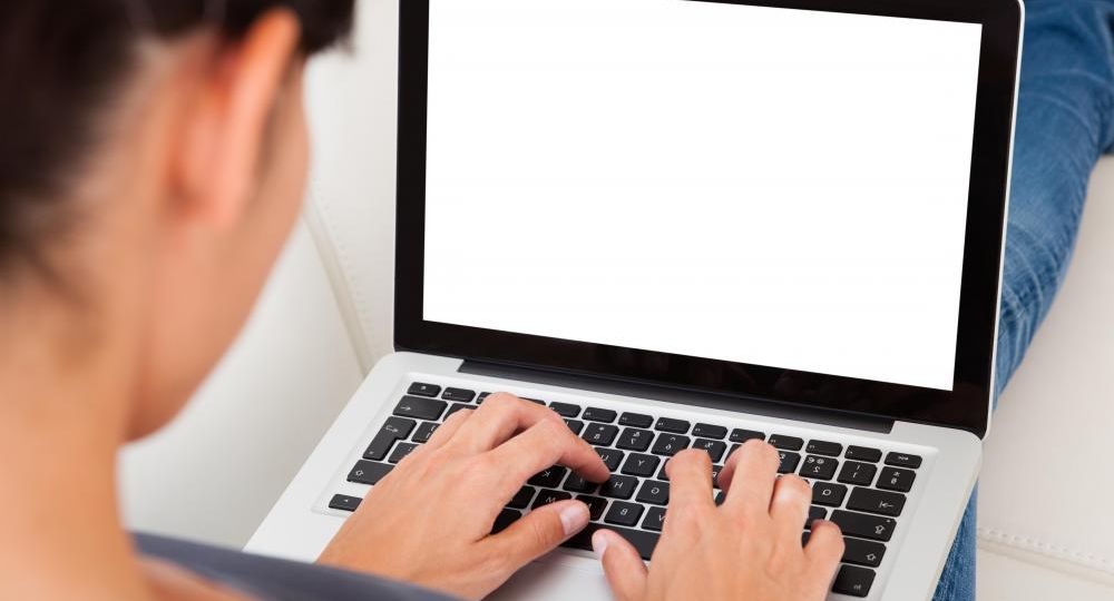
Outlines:
{"type": "MultiPolygon", "coordinates": [[[[1014,0],[678,1],[717,1],[983,26],[952,391],[424,321],[429,0],[400,3],[395,348],[929,423],[967,430],[983,437],[993,387],[1020,4],[1014,0]]],[[[483,243],[485,235],[483,231],[462,233],[460,244],[483,243]]],[[[465,294],[482,294],[482,290],[465,294]]]]}

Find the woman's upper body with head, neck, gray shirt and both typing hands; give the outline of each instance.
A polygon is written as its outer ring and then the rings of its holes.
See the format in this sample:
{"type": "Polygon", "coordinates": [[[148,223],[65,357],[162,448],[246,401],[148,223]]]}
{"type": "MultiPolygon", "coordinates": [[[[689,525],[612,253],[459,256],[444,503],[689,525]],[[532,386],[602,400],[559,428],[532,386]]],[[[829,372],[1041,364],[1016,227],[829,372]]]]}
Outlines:
{"type": "MultiPolygon", "coordinates": [[[[374,490],[322,555],[334,569],[140,550],[120,525],[117,451],[177,414],[294,223],[305,58],[352,1],[0,3],[0,599],[478,599],[587,523],[567,501],[488,535],[540,469],[608,475],[556,414],[499,395],[374,490]]],[[[678,455],[653,568],[594,540],[617,597],[822,599],[842,539],[819,522],[802,549],[811,493],[776,465],[763,443],[735,453],[722,481],[746,485],[717,508],[707,455],[678,455]]]]}

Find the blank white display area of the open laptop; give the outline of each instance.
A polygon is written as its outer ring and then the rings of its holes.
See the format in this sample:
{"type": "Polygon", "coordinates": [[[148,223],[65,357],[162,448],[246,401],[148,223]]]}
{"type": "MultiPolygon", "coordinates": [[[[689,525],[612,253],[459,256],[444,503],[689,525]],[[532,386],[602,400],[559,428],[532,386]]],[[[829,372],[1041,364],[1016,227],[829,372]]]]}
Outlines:
{"type": "Polygon", "coordinates": [[[427,321],[951,388],[980,26],[430,4],[427,321]]]}

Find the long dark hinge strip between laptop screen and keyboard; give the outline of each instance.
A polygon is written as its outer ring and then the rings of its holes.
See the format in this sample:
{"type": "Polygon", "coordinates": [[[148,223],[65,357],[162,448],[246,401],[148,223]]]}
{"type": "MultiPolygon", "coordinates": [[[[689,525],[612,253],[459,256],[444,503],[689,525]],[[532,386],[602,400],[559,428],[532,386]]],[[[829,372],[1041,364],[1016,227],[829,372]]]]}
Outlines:
{"type": "Polygon", "coordinates": [[[620,396],[652,398],[654,401],[662,401],[666,403],[678,403],[682,405],[707,407],[721,411],[743,412],[753,415],[776,417],[780,420],[793,420],[797,422],[809,422],[813,424],[878,432],[882,434],[888,434],[893,430],[892,418],[861,415],[834,410],[802,407],[800,405],[772,400],[693,391],[667,385],[648,384],[645,382],[633,382],[619,378],[589,376],[553,370],[539,370],[477,361],[465,361],[459,371],[462,374],[469,375],[515,380],[531,384],[546,384],[550,386],[560,386],[563,388],[592,391],[620,396]]]}

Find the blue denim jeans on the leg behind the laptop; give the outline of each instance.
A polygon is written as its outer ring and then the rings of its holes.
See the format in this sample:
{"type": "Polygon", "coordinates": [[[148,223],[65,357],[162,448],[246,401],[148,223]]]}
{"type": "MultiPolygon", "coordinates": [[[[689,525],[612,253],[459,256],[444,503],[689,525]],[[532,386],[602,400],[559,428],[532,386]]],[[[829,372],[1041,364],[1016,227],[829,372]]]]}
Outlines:
{"type": "MultiPolygon", "coordinates": [[[[1064,280],[1091,171],[1114,146],[1114,1],[1025,4],[997,393],[1064,280]]],[[[976,499],[964,513],[937,601],[975,599],[976,499]]]]}

